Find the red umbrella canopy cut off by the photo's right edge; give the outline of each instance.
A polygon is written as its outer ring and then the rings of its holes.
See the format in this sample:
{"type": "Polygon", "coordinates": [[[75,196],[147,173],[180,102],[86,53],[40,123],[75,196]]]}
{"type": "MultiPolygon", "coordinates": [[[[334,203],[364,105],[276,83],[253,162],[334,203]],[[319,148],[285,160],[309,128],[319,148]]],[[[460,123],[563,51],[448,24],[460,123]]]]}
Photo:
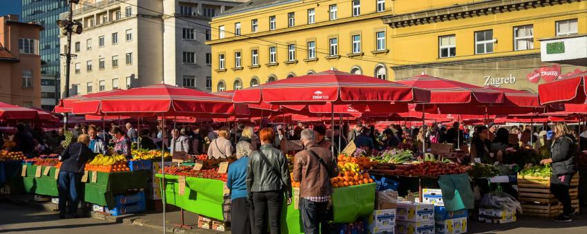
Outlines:
{"type": "Polygon", "coordinates": [[[538,85],[540,104],[551,103],[586,103],[587,87],[585,81],[587,72],[581,72],[551,83],[538,85]]]}

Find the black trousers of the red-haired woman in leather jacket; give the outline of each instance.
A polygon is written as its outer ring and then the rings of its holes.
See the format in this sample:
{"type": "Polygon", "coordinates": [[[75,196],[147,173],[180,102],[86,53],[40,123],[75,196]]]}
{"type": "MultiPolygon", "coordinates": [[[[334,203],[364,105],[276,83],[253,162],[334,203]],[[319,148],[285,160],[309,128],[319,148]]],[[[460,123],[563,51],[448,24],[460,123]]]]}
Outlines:
{"type": "Polygon", "coordinates": [[[255,212],[255,233],[281,233],[281,206],[283,205],[282,191],[265,191],[253,193],[253,209],[255,212]]]}

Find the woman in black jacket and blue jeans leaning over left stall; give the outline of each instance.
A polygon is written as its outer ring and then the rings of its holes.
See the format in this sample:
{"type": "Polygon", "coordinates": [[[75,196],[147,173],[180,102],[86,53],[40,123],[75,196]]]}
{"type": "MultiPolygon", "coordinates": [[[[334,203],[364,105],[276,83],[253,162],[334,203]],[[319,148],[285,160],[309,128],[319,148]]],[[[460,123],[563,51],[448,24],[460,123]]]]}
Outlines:
{"type": "Polygon", "coordinates": [[[81,183],[81,175],[84,174],[86,162],[93,160],[97,153],[88,148],[90,136],[81,134],[77,142],[70,144],[61,153],[59,160],[62,162],[59,169],[57,189],[59,191],[59,218],[65,218],[66,203],[69,201],[69,214],[77,217],[78,192],[81,183]]]}

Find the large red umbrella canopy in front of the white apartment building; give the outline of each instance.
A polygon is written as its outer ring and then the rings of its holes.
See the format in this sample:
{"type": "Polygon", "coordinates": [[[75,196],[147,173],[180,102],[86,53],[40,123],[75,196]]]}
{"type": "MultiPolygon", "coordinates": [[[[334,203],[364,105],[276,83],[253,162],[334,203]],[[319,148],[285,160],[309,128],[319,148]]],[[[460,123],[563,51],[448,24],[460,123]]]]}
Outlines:
{"type": "Polygon", "coordinates": [[[133,116],[215,116],[234,114],[230,99],[172,85],[149,85],[107,96],[85,97],[72,104],[73,114],[133,116]]]}

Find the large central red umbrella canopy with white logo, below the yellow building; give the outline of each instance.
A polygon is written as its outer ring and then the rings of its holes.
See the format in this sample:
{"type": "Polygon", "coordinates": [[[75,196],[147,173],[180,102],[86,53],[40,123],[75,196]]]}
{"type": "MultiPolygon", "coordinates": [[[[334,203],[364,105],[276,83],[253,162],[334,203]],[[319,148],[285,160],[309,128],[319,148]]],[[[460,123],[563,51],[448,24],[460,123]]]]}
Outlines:
{"type": "Polygon", "coordinates": [[[427,102],[430,93],[378,78],[329,70],[236,90],[235,103],[333,105],[396,101],[427,102]]]}

